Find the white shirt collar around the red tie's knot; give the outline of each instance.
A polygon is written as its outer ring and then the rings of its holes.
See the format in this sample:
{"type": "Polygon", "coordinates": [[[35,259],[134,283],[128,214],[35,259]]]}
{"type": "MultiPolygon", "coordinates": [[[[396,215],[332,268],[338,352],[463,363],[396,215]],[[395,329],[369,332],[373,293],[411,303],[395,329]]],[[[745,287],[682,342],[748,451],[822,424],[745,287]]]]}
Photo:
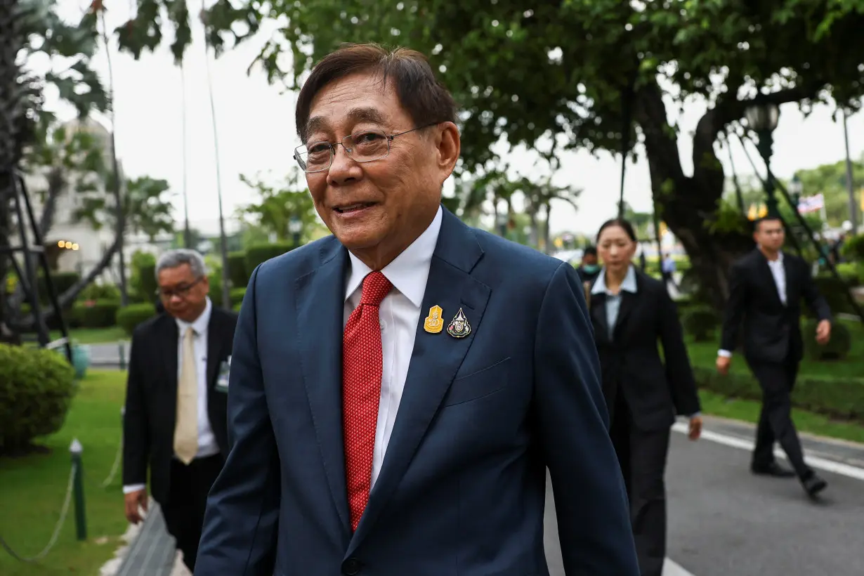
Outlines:
{"type": "MultiPolygon", "coordinates": [[[[429,279],[429,266],[435,253],[435,245],[438,244],[438,233],[441,231],[442,217],[442,208],[438,206],[432,224],[403,250],[402,254],[396,256],[393,262],[381,269],[393,288],[404,294],[416,307],[422,306],[426,281],[429,279]]],[[[358,290],[366,275],[372,272],[372,269],[360,262],[360,259],[350,250],[348,256],[351,259],[351,273],[348,275],[345,287],[346,301],[358,290]]]]}

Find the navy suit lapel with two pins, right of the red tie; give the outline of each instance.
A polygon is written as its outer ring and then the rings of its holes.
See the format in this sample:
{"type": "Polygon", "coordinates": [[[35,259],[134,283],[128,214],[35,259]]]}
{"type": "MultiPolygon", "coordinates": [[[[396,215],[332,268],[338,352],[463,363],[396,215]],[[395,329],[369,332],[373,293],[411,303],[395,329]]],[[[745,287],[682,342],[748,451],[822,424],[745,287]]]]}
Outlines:
{"type": "Polygon", "coordinates": [[[470,275],[482,254],[473,231],[445,210],[393,433],[347,555],[359,546],[396,491],[473,339],[482,330],[491,290],[470,275]],[[442,307],[445,323],[442,332],[436,334],[426,332],[423,327],[429,308],[434,306],[442,307]],[[454,338],[448,334],[447,326],[460,309],[471,332],[463,338],[454,338]]]}

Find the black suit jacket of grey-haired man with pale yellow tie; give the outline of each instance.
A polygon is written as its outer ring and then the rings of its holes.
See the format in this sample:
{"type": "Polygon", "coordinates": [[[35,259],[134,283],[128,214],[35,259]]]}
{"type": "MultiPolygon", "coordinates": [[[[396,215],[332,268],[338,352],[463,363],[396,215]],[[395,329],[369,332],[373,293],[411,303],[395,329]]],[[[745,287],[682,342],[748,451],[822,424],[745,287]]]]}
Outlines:
{"type": "MultiPolygon", "coordinates": [[[[213,307],[207,326],[207,415],[219,450],[228,453],[227,394],[216,389],[219,366],[232,351],[237,314],[213,307]]],[[[168,497],[177,410],[177,323],[161,314],[132,334],[124,414],[123,483],[147,484],[157,502],[168,497]]]]}

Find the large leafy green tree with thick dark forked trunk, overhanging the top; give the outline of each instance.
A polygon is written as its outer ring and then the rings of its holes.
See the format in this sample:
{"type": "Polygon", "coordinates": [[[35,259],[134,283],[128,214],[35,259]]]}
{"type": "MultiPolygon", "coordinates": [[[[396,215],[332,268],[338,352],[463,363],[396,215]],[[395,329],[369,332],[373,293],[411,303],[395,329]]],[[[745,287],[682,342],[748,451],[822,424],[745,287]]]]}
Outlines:
{"type": "MultiPolygon", "coordinates": [[[[203,17],[217,51],[238,41],[237,22],[248,34],[265,18],[286,22],[258,62],[270,79],[292,88],[343,41],[431,54],[463,104],[467,170],[491,161],[492,144],[502,137],[513,145],[630,153],[624,142],[640,142],[659,216],[717,305],[731,259],[752,245],[713,225],[724,188],[718,135],[757,95],[806,111],[830,98],[857,109],[864,92],[861,51],[848,48],[860,45],[864,0],[563,0],[530,8],[512,0],[219,0],[203,17]],[[286,54],[293,70],[280,67],[286,54]],[[689,135],[688,175],[668,114],[692,98],[704,98],[708,111],[689,135]]],[[[158,28],[155,16],[140,12],[130,25],[158,28]]],[[[153,35],[147,40],[128,47],[158,43],[153,35]]]]}

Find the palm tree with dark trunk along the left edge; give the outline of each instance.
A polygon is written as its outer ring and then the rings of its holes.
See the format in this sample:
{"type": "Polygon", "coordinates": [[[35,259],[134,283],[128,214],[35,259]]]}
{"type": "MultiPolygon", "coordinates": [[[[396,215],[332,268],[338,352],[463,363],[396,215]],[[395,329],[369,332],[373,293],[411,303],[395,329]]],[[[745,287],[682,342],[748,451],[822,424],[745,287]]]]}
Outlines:
{"type": "MultiPolygon", "coordinates": [[[[0,250],[10,247],[16,170],[25,147],[36,136],[35,125],[44,122],[46,85],[53,85],[81,117],[108,107],[105,91],[90,66],[97,49],[95,14],[88,11],[80,22],[68,24],[55,8],[54,0],[0,0],[0,250]],[[41,77],[25,67],[37,55],[47,56],[52,64],[41,77]]],[[[10,268],[8,257],[2,256],[0,280],[10,268]]],[[[5,321],[9,313],[6,291],[0,290],[0,339],[12,338],[5,321]]]]}

